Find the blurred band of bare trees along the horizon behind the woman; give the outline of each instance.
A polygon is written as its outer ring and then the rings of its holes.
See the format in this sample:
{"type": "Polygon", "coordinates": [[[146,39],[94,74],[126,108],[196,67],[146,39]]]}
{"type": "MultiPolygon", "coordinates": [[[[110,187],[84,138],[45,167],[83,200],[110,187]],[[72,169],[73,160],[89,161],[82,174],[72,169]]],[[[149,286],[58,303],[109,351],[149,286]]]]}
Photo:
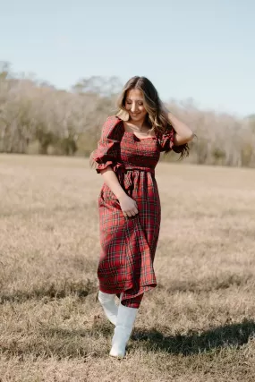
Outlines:
{"type": "MultiPolygon", "coordinates": [[[[94,76],[70,90],[56,89],[0,64],[0,152],[89,157],[102,123],[116,112],[122,86],[117,77],[94,76]]],[[[191,99],[166,106],[197,135],[185,163],[255,166],[255,115],[238,118],[200,110],[191,99]]],[[[178,156],[164,158],[175,161],[178,156]]]]}

